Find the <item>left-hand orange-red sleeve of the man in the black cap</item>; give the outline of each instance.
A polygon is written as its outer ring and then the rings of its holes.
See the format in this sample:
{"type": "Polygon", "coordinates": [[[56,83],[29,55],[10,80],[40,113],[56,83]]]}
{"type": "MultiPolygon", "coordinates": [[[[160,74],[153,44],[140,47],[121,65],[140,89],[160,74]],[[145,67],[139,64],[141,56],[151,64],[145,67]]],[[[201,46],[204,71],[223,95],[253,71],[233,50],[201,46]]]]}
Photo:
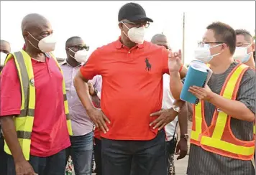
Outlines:
{"type": "Polygon", "coordinates": [[[99,50],[96,49],[91,56],[88,58],[88,61],[80,69],[81,74],[86,80],[92,80],[96,75],[101,75],[100,72],[100,57],[99,50]]]}

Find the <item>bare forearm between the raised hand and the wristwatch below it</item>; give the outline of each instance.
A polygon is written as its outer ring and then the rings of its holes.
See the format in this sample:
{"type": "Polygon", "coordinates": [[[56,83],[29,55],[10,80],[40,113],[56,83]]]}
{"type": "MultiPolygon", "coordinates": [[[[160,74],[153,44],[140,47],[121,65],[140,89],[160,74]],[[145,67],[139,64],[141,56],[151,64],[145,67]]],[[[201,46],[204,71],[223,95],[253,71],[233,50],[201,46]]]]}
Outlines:
{"type": "Polygon", "coordinates": [[[183,83],[180,80],[179,72],[170,72],[170,92],[175,100],[180,100],[180,93],[183,83]]]}

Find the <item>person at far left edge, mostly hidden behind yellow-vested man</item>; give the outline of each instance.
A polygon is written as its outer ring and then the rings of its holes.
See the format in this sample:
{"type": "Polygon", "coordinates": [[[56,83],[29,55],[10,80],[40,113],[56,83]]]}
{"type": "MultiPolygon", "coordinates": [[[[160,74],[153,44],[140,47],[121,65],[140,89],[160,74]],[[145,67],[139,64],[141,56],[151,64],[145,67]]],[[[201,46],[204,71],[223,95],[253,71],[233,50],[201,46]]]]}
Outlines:
{"type": "MultiPolygon", "coordinates": [[[[4,61],[6,59],[6,56],[11,52],[11,47],[9,42],[6,42],[5,40],[0,41],[0,72],[4,67],[4,61]]],[[[1,95],[1,93],[0,93],[1,95]]],[[[1,122],[0,122],[0,174],[7,174],[7,162],[6,162],[6,153],[4,152],[4,136],[1,131],[1,122]]]]}

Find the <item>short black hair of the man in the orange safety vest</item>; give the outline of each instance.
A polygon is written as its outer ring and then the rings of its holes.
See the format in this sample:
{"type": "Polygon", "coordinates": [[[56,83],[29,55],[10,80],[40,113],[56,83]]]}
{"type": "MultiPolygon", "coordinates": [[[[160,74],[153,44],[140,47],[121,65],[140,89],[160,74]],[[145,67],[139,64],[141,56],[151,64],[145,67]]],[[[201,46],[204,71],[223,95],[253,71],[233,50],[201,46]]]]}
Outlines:
{"type": "Polygon", "coordinates": [[[237,35],[234,29],[223,22],[214,22],[206,29],[214,31],[214,37],[217,42],[224,42],[229,47],[229,52],[233,55],[236,49],[237,35]]]}

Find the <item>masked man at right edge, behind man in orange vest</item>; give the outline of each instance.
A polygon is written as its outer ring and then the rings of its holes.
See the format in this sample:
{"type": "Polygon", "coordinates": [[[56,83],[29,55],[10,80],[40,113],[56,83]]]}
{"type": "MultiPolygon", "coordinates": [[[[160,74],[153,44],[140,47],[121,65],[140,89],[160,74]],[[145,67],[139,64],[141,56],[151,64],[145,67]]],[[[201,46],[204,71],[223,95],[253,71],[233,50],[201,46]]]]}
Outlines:
{"type": "Polygon", "coordinates": [[[255,52],[255,43],[252,35],[245,29],[235,30],[237,34],[237,47],[234,52],[234,60],[244,63],[255,69],[255,60],[253,53],[255,52]]]}

